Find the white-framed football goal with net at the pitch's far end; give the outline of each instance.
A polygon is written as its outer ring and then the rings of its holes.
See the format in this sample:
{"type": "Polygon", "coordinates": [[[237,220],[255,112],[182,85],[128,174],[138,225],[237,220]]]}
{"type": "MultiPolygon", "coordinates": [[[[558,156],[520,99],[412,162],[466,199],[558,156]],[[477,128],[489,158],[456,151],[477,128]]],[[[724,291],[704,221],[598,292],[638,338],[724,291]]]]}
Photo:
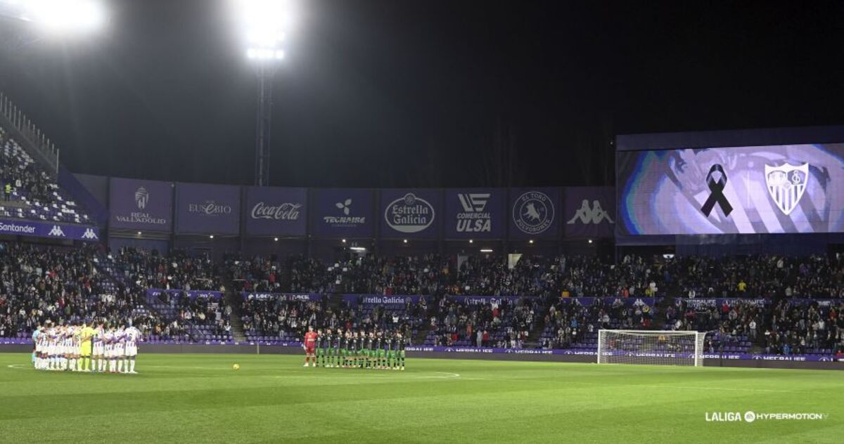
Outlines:
{"type": "Polygon", "coordinates": [[[702,366],[705,336],[696,331],[598,330],[598,364],[702,366]]]}

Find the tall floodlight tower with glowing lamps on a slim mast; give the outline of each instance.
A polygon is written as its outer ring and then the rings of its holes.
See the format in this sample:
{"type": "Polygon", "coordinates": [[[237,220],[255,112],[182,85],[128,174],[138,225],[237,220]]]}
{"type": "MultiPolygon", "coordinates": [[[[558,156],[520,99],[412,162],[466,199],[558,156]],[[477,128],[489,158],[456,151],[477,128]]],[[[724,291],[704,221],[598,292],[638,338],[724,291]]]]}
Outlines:
{"type": "Polygon", "coordinates": [[[255,125],[255,185],[269,184],[270,136],[273,116],[273,75],[284,60],[289,12],[284,0],[241,0],[246,28],[246,57],[257,67],[255,125]]]}

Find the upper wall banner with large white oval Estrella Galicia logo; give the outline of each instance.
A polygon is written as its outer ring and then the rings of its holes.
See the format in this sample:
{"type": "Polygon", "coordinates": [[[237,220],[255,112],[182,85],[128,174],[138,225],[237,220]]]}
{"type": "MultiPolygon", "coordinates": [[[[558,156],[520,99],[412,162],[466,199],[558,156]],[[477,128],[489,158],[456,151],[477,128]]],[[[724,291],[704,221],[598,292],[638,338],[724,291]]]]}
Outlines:
{"type": "Polygon", "coordinates": [[[381,238],[436,238],[442,226],[440,190],[381,190],[381,238]]]}

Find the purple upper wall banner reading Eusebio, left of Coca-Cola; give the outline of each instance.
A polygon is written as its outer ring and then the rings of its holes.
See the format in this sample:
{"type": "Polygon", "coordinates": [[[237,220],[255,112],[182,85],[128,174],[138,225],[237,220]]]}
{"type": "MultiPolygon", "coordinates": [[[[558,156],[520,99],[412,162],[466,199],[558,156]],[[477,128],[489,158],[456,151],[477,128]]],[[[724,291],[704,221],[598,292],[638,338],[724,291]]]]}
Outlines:
{"type": "Polygon", "coordinates": [[[241,187],[176,184],[176,232],[239,234],[241,187]]]}

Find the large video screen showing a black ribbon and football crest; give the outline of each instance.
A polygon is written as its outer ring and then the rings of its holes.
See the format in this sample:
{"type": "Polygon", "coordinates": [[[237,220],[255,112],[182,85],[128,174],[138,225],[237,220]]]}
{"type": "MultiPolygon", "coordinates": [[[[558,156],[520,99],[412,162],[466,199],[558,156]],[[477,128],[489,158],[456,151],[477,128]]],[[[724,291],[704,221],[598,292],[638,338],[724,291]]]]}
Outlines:
{"type": "Polygon", "coordinates": [[[844,144],[616,153],[619,234],[844,231],[844,144]]]}

